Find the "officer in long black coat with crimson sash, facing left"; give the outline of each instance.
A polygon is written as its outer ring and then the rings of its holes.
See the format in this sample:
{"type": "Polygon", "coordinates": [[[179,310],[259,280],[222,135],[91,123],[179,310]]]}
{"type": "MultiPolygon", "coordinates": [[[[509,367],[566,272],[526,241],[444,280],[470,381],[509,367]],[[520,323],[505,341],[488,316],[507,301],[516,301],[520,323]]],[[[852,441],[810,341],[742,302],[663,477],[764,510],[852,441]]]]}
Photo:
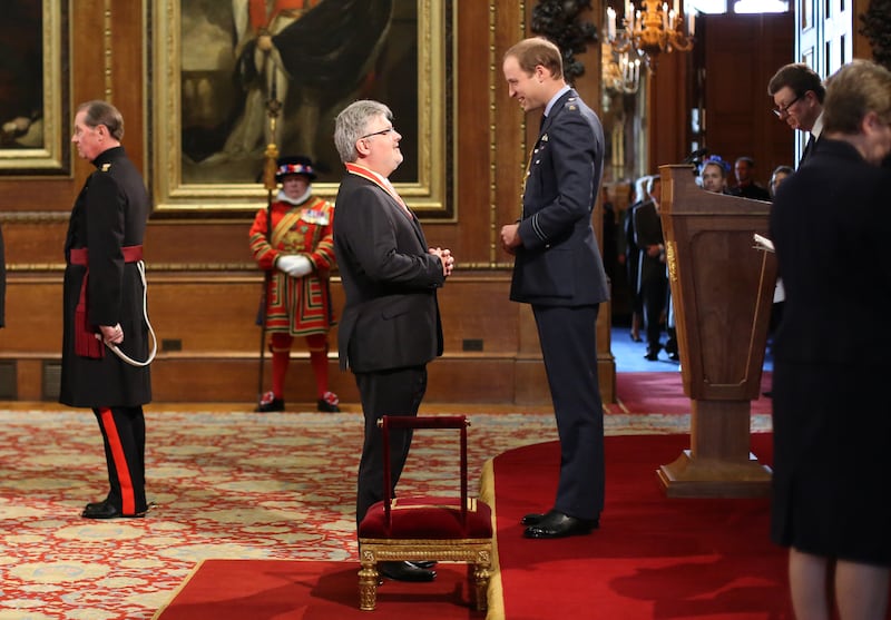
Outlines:
{"type": "Polygon", "coordinates": [[[151,400],[148,366],[125,363],[106,344],[146,360],[143,236],[149,200],[120,139],[124,119],[105,101],[78,107],[71,141],[96,166],[77,197],[65,242],[62,372],[59,402],[90,407],[105,441],[110,489],[82,516],[143,516],[145,419],[151,400]]]}

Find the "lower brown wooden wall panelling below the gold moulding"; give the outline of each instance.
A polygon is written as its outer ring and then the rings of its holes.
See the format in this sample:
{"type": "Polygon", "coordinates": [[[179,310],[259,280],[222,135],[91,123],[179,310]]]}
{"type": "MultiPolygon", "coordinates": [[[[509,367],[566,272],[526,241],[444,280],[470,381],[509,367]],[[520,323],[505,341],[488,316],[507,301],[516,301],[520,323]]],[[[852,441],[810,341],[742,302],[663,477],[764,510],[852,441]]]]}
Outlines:
{"type": "MultiPolygon", "coordinates": [[[[515,402],[518,327],[516,304],[508,299],[508,278],[497,273],[453,277],[451,294],[441,297],[446,356],[431,364],[431,376],[441,374],[447,383],[431,381],[430,394],[441,401],[515,402]],[[473,351],[464,341],[478,342],[482,351],[473,351]]],[[[260,289],[258,274],[168,273],[149,267],[149,314],[161,343],[153,365],[155,400],[253,401],[260,289]]],[[[332,293],[335,308],[342,308],[343,288],[337,281],[332,283],[332,293]]],[[[58,363],[60,357],[61,272],[17,274],[10,281],[7,312],[8,328],[0,331],[0,358],[19,364],[19,397],[37,400],[42,362],[58,363]]],[[[336,342],[336,328],[331,342],[336,342]]],[[[306,400],[306,394],[312,394],[312,373],[300,338],[293,358],[288,400],[306,400]]],[[[332,386],[345,392],[342,397],[347,400],[354,383],[350,373],[337,371],[334,350],[331,376],[332,386]]]]}

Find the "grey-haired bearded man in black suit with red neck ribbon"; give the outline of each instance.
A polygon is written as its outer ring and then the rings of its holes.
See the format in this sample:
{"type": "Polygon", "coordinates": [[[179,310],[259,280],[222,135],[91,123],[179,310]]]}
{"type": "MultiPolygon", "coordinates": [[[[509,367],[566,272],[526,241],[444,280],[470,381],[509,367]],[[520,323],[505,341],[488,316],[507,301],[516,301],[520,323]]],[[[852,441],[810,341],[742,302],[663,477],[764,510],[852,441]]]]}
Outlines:
{"type": "MultiPolygon", "coordinates": [[[[378,420],[418,415],[427,364],[442,354],[437,289],[451,274],[451,252],[429,248],[414,217],[389,180],[402,163],[393,115],[378,101],[351,104],[337,115],[334,142],[346,173],[335,201],[334,253],[346,305],[339,331],[341,370],[355,375],[365,440],[359,464],[355,518],[383,500],[383,445],[378,420]]],[[[411,432],[392,433],[395,489],[411,432]]],[[[435,573],[409,562],[381,562],[388,578],[430,581],[435,573]]]]}

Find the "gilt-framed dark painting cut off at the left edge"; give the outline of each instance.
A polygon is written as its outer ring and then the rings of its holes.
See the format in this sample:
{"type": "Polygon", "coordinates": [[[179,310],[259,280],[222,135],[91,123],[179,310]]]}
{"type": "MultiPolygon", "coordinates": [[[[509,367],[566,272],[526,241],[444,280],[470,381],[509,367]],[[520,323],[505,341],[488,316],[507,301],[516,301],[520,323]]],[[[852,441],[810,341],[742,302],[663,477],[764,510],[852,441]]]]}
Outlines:
{"type": "Polygon", "coordinates": [[[68,175],[68,2],[8,0],[3,13],[0,175],[68,175]]]}

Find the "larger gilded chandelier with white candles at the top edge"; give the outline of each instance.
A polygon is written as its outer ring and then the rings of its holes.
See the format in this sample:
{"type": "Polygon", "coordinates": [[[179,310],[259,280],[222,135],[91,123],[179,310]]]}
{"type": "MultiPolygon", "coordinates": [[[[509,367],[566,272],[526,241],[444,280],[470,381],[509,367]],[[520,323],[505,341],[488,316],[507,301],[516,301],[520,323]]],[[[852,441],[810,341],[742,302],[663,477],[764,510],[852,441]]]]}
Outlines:
{"type": "Polygon", "coordinates": [[[693,49],[695,12],[689,12],[685,29],[678,0],[673,1],[674,7],[669,9],[667,2],[643,0],[643,10],[635,11],[633,0],[625,0],[624,28],[620,31],[616,29],[616,11],[609,7],[606,10],[607,39],[616,53],[636,51],[655,71],[659,53],[693,49]]]}

